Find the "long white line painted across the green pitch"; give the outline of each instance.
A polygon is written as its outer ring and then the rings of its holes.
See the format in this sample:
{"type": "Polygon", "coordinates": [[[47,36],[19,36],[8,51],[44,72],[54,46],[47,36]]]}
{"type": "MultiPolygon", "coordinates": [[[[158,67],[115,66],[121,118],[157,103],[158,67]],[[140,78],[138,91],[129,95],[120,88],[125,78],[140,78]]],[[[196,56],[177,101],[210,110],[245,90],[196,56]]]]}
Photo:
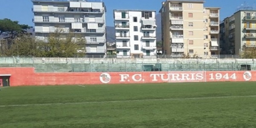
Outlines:
{"type": "Polygon", "coordinates": [[[220,99],[220,98],[243,98],[256,96],[222,96],[222,97],[199,97],[199,98],[173,98],[173,99],[141,99],[107,102],[75,102],[75,103],[52,103],[52,104],[29,104],[29,105],[1,105],[2,107],[20,107],[20,106],[45,106],[45,105],[75,105],[75,104],[95,104],[95,103],[116,103],[116,102],[142,102],[142,101],[163,101],[163,100],[189,100],[189,99],[220,99]]]}

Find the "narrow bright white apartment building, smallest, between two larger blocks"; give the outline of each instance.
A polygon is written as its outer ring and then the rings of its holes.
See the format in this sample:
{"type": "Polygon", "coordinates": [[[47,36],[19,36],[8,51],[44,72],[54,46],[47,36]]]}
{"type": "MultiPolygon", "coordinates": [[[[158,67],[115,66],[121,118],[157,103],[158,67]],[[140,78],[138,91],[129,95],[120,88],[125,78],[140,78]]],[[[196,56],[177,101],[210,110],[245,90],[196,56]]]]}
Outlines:
{"type": "Polygon", "coordinates": [[[113,10],[118,57],[156,56],[156,20],[151,10],[113,10]]]}

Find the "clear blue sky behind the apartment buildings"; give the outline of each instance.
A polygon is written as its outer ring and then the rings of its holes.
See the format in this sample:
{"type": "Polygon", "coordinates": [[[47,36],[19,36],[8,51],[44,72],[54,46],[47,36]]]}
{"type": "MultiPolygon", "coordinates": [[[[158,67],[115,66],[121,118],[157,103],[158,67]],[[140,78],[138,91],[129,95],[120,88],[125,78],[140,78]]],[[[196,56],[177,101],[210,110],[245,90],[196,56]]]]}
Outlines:
{"type": "MultiPolygon", "coordinates": [[[[106,24],[113,26],[113,9],[146,9],[157,13],[165,0],[102,0],[107,7],[106,24]]],[[[235,10],[246,2],[247,6],[256,7],[255,0],[205,0],[205,7],[220,7],[220,20],[232,15],[235,10]]],[[[31,0],[0,0],[0,19],[17,20],[21,24],[34,26],[32,22],[31,0]]]]}

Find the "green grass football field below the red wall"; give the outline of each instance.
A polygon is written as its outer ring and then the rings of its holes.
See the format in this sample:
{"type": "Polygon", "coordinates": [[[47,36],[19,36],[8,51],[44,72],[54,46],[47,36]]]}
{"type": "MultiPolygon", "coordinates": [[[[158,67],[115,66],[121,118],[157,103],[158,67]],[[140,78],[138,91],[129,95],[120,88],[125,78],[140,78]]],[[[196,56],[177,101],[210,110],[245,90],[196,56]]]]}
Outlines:
{"type": "Polygon", "coordinates": [[[256,128],[256,82],[7,87],[0,117],[0,128],[256,128]]]}

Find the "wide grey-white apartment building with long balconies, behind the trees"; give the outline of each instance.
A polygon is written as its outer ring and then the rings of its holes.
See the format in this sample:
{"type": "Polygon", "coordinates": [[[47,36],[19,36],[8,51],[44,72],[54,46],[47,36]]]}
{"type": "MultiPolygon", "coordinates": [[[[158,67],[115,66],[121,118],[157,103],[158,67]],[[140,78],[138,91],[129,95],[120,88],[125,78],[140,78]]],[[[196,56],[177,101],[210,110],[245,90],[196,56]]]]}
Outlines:
{"type": "Polygon", "coordinates": [[[32,0],[35,36],[47,41],[50,32],[62,29],[87,40],[87,55],[106,54],[105,12],[103,2],[96,0],[32,0]]]}

